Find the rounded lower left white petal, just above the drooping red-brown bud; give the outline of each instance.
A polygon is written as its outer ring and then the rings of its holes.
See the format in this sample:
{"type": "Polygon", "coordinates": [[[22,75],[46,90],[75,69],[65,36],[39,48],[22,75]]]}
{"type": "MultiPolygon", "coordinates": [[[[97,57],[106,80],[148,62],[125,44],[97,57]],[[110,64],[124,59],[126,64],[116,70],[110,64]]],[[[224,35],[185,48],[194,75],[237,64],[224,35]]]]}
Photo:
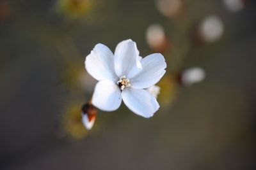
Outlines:
{"type": "Polygon", "coordinates": [[[113,81],[101,80],[95,86],[92,96],[93,106],[103,111],[114,111],[122,102],[121,91],[113,81]]]}

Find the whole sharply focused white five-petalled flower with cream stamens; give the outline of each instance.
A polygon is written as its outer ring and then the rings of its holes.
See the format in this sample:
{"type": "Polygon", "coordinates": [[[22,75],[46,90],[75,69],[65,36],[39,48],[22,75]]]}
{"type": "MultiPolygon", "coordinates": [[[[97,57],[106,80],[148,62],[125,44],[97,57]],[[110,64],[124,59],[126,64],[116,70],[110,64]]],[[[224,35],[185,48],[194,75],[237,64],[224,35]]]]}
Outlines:
{"type": "Polygon", "coordinates": [[[92,104],[103,111],[114,111],[124,104],[141,117],[149,118],[159,109],[156,98],[147,92],[164,75],[166,62],[160,53],[139,56],[136,43],[118,43],[115,54],[108,46],[97,44],[86,57],[85,67],[99,80],[92,104]]]}

